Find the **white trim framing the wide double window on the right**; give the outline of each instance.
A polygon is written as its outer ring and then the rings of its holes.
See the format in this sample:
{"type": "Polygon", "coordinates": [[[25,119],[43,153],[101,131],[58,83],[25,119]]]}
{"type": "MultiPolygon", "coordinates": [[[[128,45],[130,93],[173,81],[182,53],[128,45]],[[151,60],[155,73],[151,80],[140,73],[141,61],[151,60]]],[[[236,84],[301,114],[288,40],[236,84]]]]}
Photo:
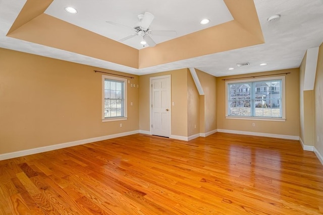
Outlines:
{"type": "Polygon", "coordinates": [[[241,79],[234,81],[226,81],[226,119],[243,119],[243,120],[262,120],[262,121],[286,121],[286,101],[285,101],[285,76],[279,77],[267,77],[267,78],[254,78],[254,79],[241,79]],[[258,82],[258,81],[271,81],[271,80],[281,80],[282,81],[282,117],[257,117],[257,116],[229,116],[228,115],[228,85],[233,83],[243,83],[243,82],[258,82]]]}

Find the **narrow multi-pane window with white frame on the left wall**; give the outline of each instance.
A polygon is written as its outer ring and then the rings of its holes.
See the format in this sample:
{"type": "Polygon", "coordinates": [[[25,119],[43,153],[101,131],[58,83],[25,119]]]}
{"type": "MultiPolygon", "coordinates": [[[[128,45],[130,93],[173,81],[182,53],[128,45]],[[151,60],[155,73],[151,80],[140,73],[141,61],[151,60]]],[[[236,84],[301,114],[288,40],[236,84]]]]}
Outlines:
{"type": "Polygon", "coordinates": [[[127,79],[102,76],[102,121],[127,119],[127,79]]]}

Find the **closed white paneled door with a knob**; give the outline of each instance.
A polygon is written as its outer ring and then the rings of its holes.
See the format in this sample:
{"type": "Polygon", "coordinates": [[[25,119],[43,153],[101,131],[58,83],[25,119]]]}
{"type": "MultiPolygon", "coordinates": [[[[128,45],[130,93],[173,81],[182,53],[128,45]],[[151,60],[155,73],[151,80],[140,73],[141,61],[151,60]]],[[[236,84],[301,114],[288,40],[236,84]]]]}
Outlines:
{"type": "Polygon", "coordinates": [[[151,134],[170,137],[171,76],[153,77],[151,83],[151,134]]]}

